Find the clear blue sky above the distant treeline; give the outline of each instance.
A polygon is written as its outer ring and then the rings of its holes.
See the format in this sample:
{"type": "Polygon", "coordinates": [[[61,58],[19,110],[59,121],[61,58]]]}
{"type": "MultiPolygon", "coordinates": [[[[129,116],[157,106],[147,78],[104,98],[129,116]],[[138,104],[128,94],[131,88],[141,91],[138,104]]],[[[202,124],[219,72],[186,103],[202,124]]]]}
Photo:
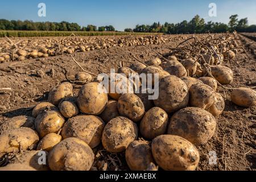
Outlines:
{"type": "Polygon", "coordinates": [[[81,26],[112,24],[117,30],[134,28],[136,24],[153,22],[177,23],[191,20],[199,14],[205,21],[228,23],[229,16],[238,14],[247,17],[249,24],[256,24],[255,0],[98,0],[98,1],[57,1],[57,0],[3,0],[0,6],[0,19],[33,20],[35,22],[68,22],[81,26]],[[46,17],[38,16],[38,4],[46,3],[46,17]],[[217,17],[208,16],[209,3],[216,3],[217,17]]]}

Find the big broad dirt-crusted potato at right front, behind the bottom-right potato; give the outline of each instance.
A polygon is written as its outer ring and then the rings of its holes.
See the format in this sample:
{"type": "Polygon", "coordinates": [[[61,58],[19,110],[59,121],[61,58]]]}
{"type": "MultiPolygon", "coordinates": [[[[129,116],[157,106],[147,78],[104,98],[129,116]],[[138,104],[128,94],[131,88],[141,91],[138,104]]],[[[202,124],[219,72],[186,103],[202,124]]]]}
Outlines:
{"type": "Polygon", "coordinates": [[[186,107],[172,115],[167,133],[200,146],[212,138],[216,125],[215,118],[208,111],[199,107],[186,107]]]}

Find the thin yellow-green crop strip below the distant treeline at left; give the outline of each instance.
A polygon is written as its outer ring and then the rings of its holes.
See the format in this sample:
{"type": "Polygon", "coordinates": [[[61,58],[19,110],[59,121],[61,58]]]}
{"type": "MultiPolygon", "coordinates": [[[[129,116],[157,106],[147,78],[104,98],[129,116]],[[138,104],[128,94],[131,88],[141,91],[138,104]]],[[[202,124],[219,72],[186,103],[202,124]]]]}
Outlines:
{"type": "Polygon", "coordinates": [[[141,32],[86,32],[86,31],[0,31],[0,37],[34,37],[34,36],[101,36],[101,35],[150,35],[161,33],[141,32]]]}

